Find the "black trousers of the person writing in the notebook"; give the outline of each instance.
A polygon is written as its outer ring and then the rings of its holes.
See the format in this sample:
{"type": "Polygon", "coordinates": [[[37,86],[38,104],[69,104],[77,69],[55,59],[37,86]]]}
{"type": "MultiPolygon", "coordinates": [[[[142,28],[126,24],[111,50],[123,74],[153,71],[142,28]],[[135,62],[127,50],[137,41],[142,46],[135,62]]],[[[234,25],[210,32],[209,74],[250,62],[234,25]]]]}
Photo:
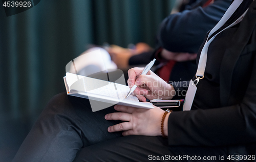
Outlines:
{"type": "Polygon", "coordinates": [[[105,114],[113,112],[109,107],[93,113],[89,100],[58,94],[42,111],[13,162],[227,161],[234,150],[243,154],[245,148],[244,153],[248,153],[245,146],[169,147],[162,137],[122,137],[121,132],[107,131],[120,122],[104,119],[105,114]],[[224,160],[220,160],[222,156],[224,160]]]}

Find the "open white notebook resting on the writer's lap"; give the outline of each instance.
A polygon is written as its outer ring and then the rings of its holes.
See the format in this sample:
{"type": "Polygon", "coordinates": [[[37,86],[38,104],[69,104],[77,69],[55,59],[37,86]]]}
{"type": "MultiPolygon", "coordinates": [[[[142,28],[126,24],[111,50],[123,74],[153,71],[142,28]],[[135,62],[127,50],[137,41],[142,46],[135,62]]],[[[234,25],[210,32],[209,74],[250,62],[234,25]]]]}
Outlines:
{"type": "MultiPolygon", "coordinates": [[[[98,111],[98,109],[102,110],[114,104],[154,109],[152,103],[139,102],[135,95],[130,95],[128,98],[125,98],[130,91],[128,86],[87,76],[76,75],[69,72],[67,72],[66,76],[63,78],[67,94],[70,96],[88,98],[90,100],[93,112],[98,111]],[[97,103],[95,101],[99,102],[97,103]],[[99,103],[102,102],[107,103],[103,105],[105,107],[93,107],[93,105],[97,106],[97,104],[99,105],[99,103]]],[[[99,106],[102,106],[102,104],[99,106]]]]}

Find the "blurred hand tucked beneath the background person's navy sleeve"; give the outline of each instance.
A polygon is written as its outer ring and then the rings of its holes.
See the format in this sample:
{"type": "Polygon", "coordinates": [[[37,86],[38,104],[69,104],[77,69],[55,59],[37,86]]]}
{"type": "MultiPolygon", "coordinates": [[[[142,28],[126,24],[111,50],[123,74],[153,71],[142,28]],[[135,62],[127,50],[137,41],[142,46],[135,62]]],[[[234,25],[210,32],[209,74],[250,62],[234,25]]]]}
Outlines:
{"type": "Polygon", "coordinates": [[[197,58],[197,53],[171,52],[166,49],[161,51],[161,57],[165,60],[174,60],[177,62],[191,61],[197,58]]]}

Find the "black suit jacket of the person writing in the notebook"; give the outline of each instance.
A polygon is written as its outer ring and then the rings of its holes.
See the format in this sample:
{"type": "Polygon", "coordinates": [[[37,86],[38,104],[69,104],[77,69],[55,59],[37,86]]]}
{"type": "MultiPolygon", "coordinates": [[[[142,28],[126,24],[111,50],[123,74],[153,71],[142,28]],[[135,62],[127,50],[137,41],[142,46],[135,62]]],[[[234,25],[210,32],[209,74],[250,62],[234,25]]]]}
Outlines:
{"type": "Polygon", "coordinates": [[[254,1],[238,25],[223,31],[210,44],[205,78],[197,86],[191,111],[173,112],[169,116],[169,145],[241,145],[236,151],[250,150],[255,154],[255,55],[254,1]],[[246,144],[254,147],[246,149],[246,144]]]}

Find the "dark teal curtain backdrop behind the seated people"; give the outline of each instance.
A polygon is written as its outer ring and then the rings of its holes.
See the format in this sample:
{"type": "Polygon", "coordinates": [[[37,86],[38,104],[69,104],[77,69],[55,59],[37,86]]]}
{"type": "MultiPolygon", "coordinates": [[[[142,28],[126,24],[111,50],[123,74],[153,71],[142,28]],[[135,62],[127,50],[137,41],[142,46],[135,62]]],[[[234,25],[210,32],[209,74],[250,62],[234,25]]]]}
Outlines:
{"type": "Polygon", "coordinates": [[[104,42],[154,47],[175,0],[41,0],[6,17],[0,6],[0,162],[11,161],[47,102],[65,91],[65,66],[104,42]]]}

